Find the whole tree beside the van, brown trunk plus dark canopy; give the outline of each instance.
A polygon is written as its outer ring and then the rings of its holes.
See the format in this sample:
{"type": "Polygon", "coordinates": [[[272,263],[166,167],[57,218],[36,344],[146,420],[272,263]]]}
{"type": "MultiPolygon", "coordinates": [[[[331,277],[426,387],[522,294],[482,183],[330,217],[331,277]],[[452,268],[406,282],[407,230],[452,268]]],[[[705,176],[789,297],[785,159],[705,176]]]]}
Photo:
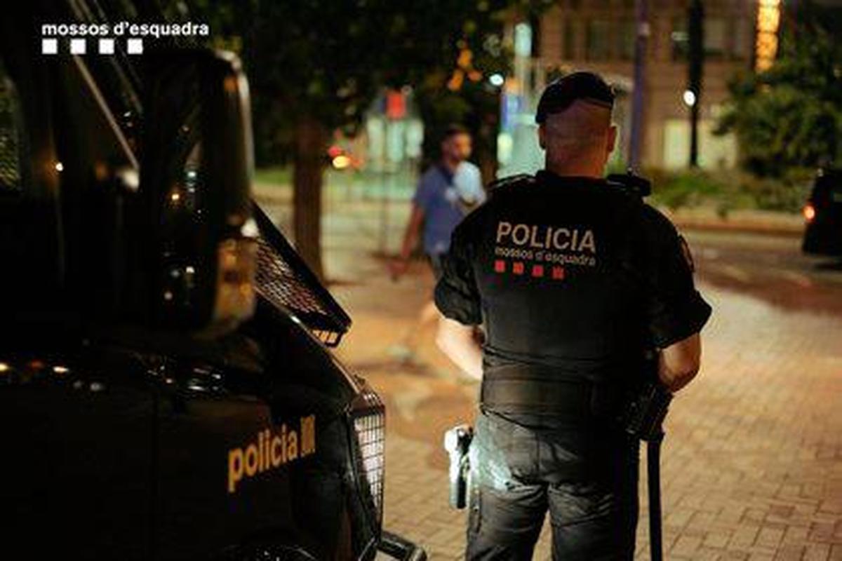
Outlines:
{"type": "Polygon", "coordinates": [[[436,132],[445,119],[469,120],[482,133],[483,124],[488,129],[482,115],[495,115],[498,108],[497,92],[483,78],[509,64],[504,15],[550,4],[248,0],[234,9],[233,0],[197,2],[201,14],[242,44],[253,93],[256,160],[294,166],[296,246],[317,273],[322,172],[333,131],[353,135],[382,88],[411,86],[425,124],[432,125],[428,130],[436,132]],[[451,80],[459,70],[463,76],[456,87],[451,80]]]}

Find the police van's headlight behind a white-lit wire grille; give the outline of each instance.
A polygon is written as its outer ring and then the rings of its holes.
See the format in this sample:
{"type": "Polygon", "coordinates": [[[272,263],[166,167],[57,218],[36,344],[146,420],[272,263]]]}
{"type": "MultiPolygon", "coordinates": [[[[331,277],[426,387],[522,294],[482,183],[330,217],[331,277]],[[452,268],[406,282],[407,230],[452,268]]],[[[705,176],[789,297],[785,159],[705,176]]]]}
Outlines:
{"type": "Polygon", "coordinates": [[[360,488],[369,490],[368,506],[373,509],[377,525],[381,527],[383,476],[386,470],[386,409],[374,391],[365,389],[354,401],[351,418],[354,421],[354,435],[359,447],[356,468],[360,488]]]}

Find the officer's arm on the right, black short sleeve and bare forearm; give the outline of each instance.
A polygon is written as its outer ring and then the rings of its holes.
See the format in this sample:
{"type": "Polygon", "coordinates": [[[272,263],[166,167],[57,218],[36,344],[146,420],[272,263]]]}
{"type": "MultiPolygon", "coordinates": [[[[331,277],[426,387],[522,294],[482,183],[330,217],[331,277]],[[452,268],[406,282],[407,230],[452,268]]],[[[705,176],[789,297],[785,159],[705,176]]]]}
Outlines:
{"type": "Polygon", "coordinates": [[[701,328],[711,306],[695,289],[689,249],[663,214],[646,211],[645,307],[648,327],[660,350],[658,377],[671,391],[699,372],[701,328]]]}

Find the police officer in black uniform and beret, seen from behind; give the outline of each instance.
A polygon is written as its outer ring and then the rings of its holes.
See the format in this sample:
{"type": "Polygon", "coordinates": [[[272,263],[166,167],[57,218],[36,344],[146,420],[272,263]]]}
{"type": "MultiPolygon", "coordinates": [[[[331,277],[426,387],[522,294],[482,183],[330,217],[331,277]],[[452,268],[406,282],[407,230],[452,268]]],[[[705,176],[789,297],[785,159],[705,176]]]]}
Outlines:
{"type": "Polygon", "coordinates": [[[632,559],[639,442],[616,413],[647,352],[673,392],[699,368],[711,308],[683,241],[603,178],[613,104],[592,73],[546,87],[536,114],[545,169],[498,182],[443,260],[438,341],[482,378],[468,559],[530,559],[546,511],[554,559],[632,559]]]}

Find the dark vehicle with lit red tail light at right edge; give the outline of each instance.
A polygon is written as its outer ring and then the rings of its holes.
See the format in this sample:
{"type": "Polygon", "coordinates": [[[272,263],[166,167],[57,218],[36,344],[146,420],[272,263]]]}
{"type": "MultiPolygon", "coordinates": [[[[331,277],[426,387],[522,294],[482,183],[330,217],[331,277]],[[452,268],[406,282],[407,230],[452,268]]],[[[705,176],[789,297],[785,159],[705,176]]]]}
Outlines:
{"type": "Polygon", "coordinates": [[[828,168],[818,173],[802,212],[807,220],[803,250],[842,257],[842,170],[828,168]]]}

